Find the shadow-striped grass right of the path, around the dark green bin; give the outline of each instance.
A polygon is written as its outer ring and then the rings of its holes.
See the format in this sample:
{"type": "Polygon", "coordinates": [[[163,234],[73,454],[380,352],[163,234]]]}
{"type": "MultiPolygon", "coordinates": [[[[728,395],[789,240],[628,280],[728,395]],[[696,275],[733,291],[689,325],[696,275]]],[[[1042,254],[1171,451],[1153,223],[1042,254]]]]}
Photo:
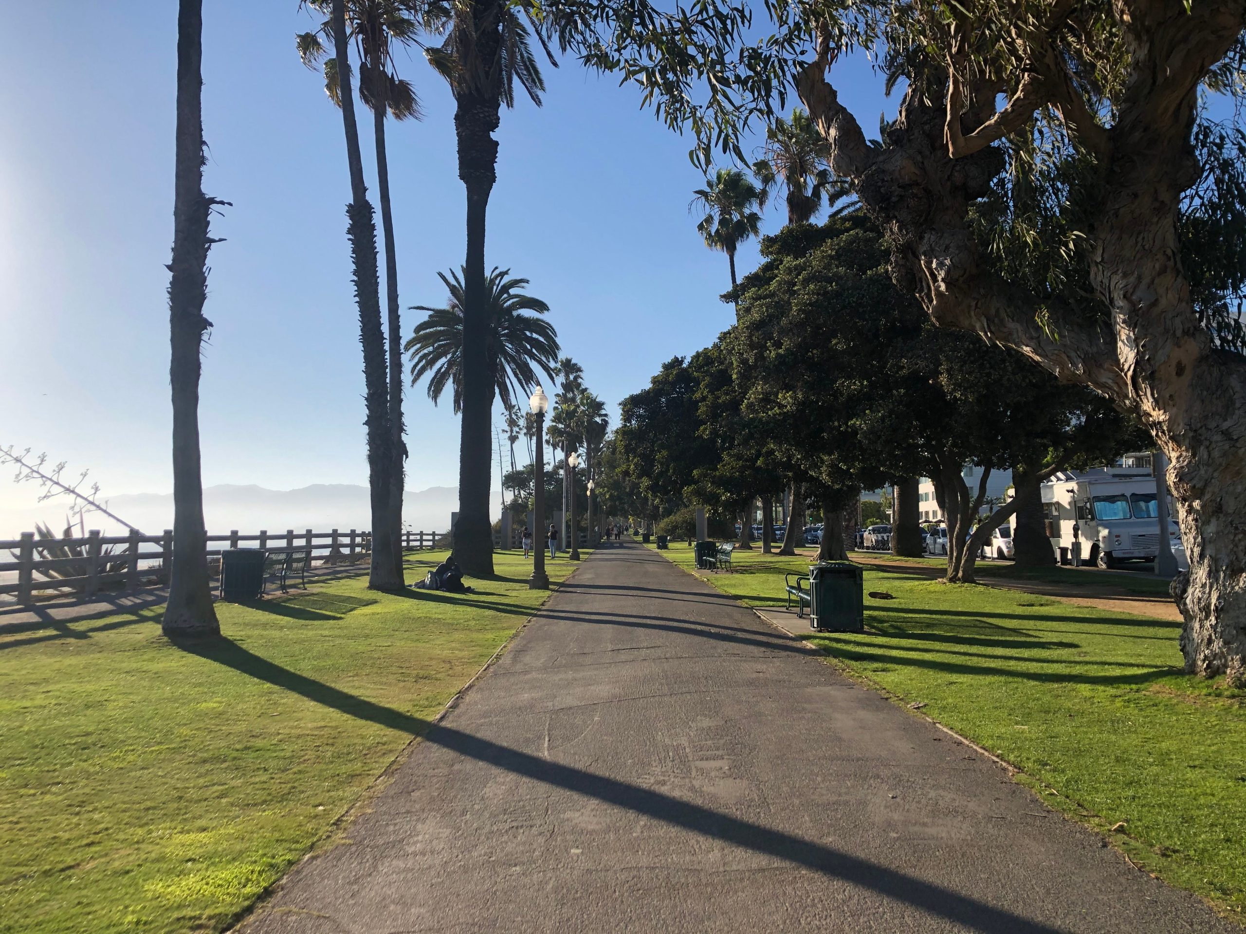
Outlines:
{"type": "MultiPolygon", "coordinates": [[[[663,554],[694,567],[687,545],[663,554]]],[[[809,558],[736,550],[733,564],[700,575],[749,605],[782,606],[784,572],[807,573],[809,558]]],[[[896,598],[866,598],[865,634],[809,641],[1015,766],[1139,867],[1241,920],[1246,691],[1181,671],[1180,624],[898,564],[867,567],[865,589],[896,598]]]]}

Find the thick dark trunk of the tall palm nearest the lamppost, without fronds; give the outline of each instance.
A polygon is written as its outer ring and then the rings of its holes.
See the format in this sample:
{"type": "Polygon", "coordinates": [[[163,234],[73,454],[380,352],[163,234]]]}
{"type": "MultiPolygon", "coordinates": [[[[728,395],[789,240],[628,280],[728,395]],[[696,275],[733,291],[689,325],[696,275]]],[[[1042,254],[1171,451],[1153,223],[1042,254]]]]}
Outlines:
{"type": "MultiPolygon", "coordinates": [[[[475,4],[477,21],[490,21],[488,11],[481,9],[488,5],[475,4]],[[485,19],[480,19],[481,15],[485,19]]],[[[482,30],[477,35],[481,60],[492,62],[496,49],[495,31],[482,30]]],[[[464,573],[483,577],[493,573],[493,534],[488,522],[493,374],[488,371],[486,347],[485,218],[496,179],[497,142],[492,133],[497,130],[501,105],[496,95],[490,98],[471,91],[460,91],[456,103],[459,177],[467,189],[467,258],[464,264],[464,403],[455,560],[464,573]]]]}

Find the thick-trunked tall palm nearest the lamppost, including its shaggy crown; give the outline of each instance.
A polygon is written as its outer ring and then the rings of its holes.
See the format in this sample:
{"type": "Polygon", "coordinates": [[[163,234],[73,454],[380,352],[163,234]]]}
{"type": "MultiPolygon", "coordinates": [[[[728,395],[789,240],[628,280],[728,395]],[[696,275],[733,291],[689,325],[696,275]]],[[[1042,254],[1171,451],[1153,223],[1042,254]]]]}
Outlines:
{"type": "MultiPolygon", "coordinates": [[[[540,32],[537,37],[553,64],[540,32]]],[[[457,0],[445,42],[427,50],[426,55],[455,96],[459,178],[467,189],[462,436],[455,558],[466,573],[478,577],[493,573],[493,535],[488,521],[493,379],[488,367],[488,288],[485,278],[485,218],[488,196],[497,179],[493,131],[501,122],[502,105],[515,106],[516,83],[540,106],[545,81],[528,45],[525,21],[506,0],[457,0]]]]}

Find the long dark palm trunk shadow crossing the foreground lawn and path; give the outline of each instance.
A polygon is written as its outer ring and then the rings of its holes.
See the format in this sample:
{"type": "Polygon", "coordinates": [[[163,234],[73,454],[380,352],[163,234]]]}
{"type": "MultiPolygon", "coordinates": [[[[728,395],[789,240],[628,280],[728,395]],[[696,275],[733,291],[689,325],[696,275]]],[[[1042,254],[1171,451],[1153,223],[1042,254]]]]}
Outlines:
{"type": "Polygon", "coordinates": [[[574,766],[551,762],[450,726],[434,726],[427,720],[374,704],[277,665],[229,639],[184,641],[178,645],[193,655],[226,665],[243,675],[292,691],[358,720],[378,724],[409,736],[424,736],[425,742],[512,775],[583,795],[703,837],[802,866],[972,930],[998,932],[998,934],[1058,934],[1055,928],[1032,922],[1004,908],[997,908],[832,847],[680,801],[658,791],[574,766]]]}

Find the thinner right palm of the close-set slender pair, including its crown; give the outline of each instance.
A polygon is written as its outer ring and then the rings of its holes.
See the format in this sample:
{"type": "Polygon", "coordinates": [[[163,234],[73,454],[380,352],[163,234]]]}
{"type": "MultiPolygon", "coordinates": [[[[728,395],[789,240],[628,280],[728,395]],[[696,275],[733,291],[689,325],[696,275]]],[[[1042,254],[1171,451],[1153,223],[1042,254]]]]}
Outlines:
{"type": "MultiPolygon", "coordinates": [[[[304,0],[319,12],[331,12],[330,0],[304,0]]],[[[376,151],[376,188],[381,203],[381,232],[385,242],[385,298],[389,311],[389,426],[392,465],[390,467],[389,532],[392,537],[395,573],[402,577],[402,486],[406,445],[402,441],[402,324],[397,301],[397,248],[394,244],[394,214],[390,207],[389,156],[385,144],[385,118],[420,118],[420,101],[409,81],[394,68],[394,44],[412,42],[421,31],[415,17],[416,5],[410,0],[346,0],[345,14],[350,37],[359,56],[359,93],[373,111],[373,134],[376,151]]],[[[425,7],[427,9],[427,7],[425,7]]],[[[324,62],[325,91],[341,106],[341,87],[336,59],[329,57],[324,39],[333,35],[329,16],[316,32],[297,36],[299,57],[314,67],[324,62]]],[[[374,538],[376,532],[373,533],[374,538]]]]}

